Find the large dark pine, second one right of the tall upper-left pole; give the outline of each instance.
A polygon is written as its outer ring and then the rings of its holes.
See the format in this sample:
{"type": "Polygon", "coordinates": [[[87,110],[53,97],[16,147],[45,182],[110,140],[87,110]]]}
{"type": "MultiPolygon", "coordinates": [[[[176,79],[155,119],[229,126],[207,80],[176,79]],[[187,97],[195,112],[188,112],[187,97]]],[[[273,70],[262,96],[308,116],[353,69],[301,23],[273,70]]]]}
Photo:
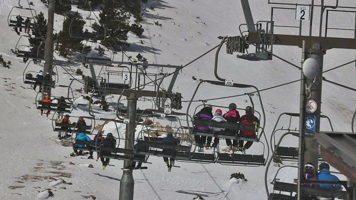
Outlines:
{"type": "MultiPolygon", "coordinates": [[[[130,25],[130,13],[125,11],[120,11],[116,9],[117,3],[114,0],[105,0],[104,6],[100,6],[101,12],[99,14],[100,20],[99,23],[93,24],[94,30],[103,30],[104,28],[101,25],[104,25],[106,29],[106,38],[108,41],[114,40],[111,45],[115,48],[115,44],[120,44],[123,41],[127,41],[127,33],[129,32],[130,25]]],[[[96,34],[96,32],[94,31],[96,34]]],[[[99,31],[99,36],[104,37],[104,33],[99,31]]]]}

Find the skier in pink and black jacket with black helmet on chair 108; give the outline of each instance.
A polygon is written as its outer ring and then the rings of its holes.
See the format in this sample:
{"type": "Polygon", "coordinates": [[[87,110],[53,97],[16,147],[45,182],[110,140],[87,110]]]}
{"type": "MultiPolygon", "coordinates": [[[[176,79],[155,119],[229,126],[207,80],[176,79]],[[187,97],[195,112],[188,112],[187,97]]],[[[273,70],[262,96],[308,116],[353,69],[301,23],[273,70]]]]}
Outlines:
{"type": "MultiPolygon", "coordinates": [[[[235,123],[239,122],[240,114],[239,111],[236,110],[236,104],[234,103],[229,104],[229,111],[227,111],[223,117],[227,122],[235,122],[235,123]]],[[[225,132],[236,134],[236,135],[239,134],[239,130],[226,129],[225,132]]],[[[234,140],[232,144],[230,139],[225,139],[225,141],[226,141],[226,145],[229,146],[230,150],[234,152],[235,149],[237,149],[237,144],[239,144],[239,140],[234,140]]]]}

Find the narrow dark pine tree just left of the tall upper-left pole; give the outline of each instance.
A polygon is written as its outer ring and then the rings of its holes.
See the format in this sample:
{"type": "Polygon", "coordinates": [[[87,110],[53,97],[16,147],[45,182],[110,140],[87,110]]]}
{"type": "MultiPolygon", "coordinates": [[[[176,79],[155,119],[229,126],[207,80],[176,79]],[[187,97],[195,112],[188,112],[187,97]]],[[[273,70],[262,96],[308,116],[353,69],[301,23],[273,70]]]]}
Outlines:
{"type": "Polygon", "coordinates": [[[42,38],[28,38],[28,42],[30,42],[31,51],[37,51],[37,48],[41,45],[39,53],[45,53],[45,41],[47,37],[47,20],[44,17],[44,14],[40,12],[40,14],[35,16],[36,25],[35,28],[32,29],[32,35],[36,37],[42,38]],[[42,44],[41,44],[42,42],[42,44]]]}

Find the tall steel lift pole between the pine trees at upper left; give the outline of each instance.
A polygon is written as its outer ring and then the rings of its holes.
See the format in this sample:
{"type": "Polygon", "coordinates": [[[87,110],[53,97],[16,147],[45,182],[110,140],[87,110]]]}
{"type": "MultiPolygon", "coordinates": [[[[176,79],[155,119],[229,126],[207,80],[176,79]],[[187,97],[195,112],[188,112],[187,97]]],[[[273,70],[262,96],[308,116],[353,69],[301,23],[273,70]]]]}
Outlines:
{"type": "MultiPolygon", "coordinates": [[[[53,68],[53,49],[54,49],[54,39],[53,39],[53,23],[54,23],[54,4],[55,0],[48,0],[48,19],[47,19],[47,38],[45,45],[45,61],[43,65],[43,75],[49,73],[50,80],[52,80],[52,68],[53,68]]],[[[51,88],[46,87],[46,90],[42,90],[42,99],[45,98],[45,93],[51,96],[51,88]]]]}

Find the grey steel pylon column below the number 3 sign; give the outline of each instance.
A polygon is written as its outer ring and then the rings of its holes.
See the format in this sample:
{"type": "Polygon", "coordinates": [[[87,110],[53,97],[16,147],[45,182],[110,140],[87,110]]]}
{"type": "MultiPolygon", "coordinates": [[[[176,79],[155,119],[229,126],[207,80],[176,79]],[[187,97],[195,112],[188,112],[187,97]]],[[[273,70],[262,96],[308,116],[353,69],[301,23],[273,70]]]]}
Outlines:
{"type": "MultiPolygon", "coordinates": [[[[127,114],[130,123],[126,125],[125,149],[132,149],[132,142],[135,140],[135,123],[136,123],[137,98],[135,93],[131,93],[127,98],[127,114]]],[[[131,161],[124,161],[124,168],[131,165],[131,161]]],[[[119,200],[133,200],[133,176],[132,170],[123,170],[120,180],[119,200]]]]}

